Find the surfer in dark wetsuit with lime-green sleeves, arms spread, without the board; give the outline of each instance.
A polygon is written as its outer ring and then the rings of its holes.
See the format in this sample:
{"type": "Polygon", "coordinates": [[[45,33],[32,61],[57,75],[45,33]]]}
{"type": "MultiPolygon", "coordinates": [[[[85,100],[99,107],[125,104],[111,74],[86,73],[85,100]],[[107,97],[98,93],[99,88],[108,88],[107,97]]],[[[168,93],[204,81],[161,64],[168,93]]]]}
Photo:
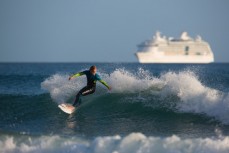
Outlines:
{"type": "Polygon", "coordinates": [[[73,106],[75,107],[76,105],[80,105],[80,96],[86,96],[89,94],[93,94],[95,92],[96,89],[96,81],[101,82],[104,86],[106,86],[109,90],[111,90],[111,87],[100,78],[100,76],[96,73],[97,69],[96,66],[91,66],[89,70],[86,71],[82,71],[79,73],[76,73],[72,76],[69,77],[69,80],[71,80],[72,78],[78,77],[78,76],[82,76],[82,75],[86,75],[87,77],[87,86],[83,87],[78,94],[76,95],[76,99],[73,103],[73,106]]]}

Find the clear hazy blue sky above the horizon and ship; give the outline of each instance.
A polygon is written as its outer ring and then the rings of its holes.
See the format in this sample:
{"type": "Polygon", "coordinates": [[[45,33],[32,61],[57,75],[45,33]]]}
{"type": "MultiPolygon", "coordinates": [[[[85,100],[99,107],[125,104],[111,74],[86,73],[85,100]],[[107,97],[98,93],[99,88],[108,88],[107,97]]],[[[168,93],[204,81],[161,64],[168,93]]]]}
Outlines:
{"type": "Polygon", "coordinates": [[[228,0],[0,0],[0,62],[137,62],[159,30],[208,41],[229,62],[228,0]]]}

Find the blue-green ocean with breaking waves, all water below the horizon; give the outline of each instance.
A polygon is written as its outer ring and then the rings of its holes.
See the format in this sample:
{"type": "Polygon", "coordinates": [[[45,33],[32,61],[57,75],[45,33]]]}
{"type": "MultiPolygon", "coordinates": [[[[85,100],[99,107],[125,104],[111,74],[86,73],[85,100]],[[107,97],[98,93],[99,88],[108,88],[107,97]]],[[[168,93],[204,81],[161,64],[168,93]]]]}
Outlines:
{"type": "Polygon", "coordinates": [[[1,63],[0,152],[228,153],[229,64],[1,63]],[[112,90],[62,112],[91,65],[112,90]]]}

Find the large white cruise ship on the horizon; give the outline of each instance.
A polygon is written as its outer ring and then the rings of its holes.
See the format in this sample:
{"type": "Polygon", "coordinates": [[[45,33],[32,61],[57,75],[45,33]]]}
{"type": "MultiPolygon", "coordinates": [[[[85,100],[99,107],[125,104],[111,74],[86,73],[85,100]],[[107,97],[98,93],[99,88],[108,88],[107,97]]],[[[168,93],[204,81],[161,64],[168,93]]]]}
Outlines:
{"type": "Polygon", "coordinates": [[[135,55],[140,63],[214,62],[210,45],[199,35],[193,39],[187,32],[183,32],[179,39],[166,38],[156,32],[151,40],[138,45],[135,55]]]}

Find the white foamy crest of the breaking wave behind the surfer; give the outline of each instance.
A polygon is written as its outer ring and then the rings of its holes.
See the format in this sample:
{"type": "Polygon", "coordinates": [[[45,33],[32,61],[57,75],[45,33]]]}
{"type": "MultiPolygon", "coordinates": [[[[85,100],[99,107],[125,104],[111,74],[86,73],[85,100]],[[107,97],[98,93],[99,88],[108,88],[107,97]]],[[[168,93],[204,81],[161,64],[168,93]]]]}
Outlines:
{"type": "MultiPolygon", "coordinates": [[[[116,69],[111,74],[102,73],[101,76],[112,86],[112,91],[108,93],[98,83],[94,99],[104,94],[112,97],[117,95],[121,96],[117,103],[141,103],[152,109],[157,107],[175,112],[204,114],[229,124],[229,93],[203,85],[193,71],[169,71],[155,77],[143,69],[136,73],[116,69]]],[[[49,91],[53,101],[61,103],[72,100],[86,84],[85,81],[83,77],[68,81],[67,74],[54,74],[46,78],[41,87],[49,91]]],[[[89,98],[89,101],[93,101],[93,98],[89,98]]]]}

